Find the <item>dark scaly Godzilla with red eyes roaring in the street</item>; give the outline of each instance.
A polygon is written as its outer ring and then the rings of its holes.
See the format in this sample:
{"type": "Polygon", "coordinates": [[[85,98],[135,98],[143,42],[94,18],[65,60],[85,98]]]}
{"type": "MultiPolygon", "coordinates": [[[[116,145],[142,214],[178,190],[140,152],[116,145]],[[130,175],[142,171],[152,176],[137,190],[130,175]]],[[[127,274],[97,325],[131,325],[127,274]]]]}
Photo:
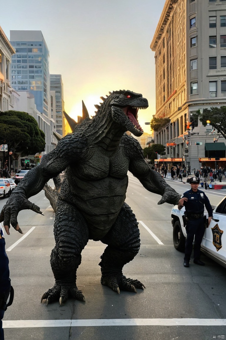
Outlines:
{"type": "Polygon", "coordinates": [[[28,198],[41,191],[50,178],[63,170],[65,177],[57,195],[54,236],[50,256],[55,284],[42,296],[46,304],[68,296],[85,301],[76,286],[81,252],[89,239],[107,244],[101,255],[101,284],[120,293],[136,292],[144,285],[126,278],[122,269],[140,249],[138,222],[125,203],[127,172],[136,176],[149,191],[162,195],[158,204],[177,204],[180,195],[144,159],[139,142],[126,134],[141,136],[138,110],[148,107],[147,99],[132,91],[109,92],[96,116],[87,117],[73,133],[63,137],[41,164],[30,170],[4,205],[0,221],[6,233],[11,225],[20,231],[17,215],[22,209],[40,208],[28,198]]]}

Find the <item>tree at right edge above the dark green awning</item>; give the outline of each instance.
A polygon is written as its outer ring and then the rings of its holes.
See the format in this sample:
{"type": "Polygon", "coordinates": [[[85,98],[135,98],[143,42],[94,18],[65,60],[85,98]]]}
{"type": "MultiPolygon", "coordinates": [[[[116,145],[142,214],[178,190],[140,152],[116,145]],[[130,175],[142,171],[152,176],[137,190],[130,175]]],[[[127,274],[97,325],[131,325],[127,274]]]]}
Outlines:
{"type": "Polygon", "coordinates": [[[203,113],[200,110],[193,113],[192,117],[199,118],[201,123],[206,126],[206,121],[210,120],[210,124],[215,128],[219,134],[222,134],[226,138],[226,106],[211,107],[203,109],[203,113]]]}

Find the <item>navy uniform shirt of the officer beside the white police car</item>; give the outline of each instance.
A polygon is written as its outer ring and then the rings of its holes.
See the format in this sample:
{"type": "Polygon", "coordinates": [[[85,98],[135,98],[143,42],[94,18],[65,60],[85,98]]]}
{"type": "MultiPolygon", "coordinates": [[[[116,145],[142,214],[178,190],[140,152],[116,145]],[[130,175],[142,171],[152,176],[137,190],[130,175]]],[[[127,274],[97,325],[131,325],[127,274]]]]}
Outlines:
{"type": "Polygon", "coordinates": [[[184,201],[184,207],[187,214],[200,214],[202,215],[204,212],[204,205],[208,212],[208,217],[213,216],[213,209],[209,202],[208,197],[205,192],[201,190],[197,190],[197,192],[192,191],[192,189],[183,193],[181,198],[186,197],[188,199],[187,202],[184,201]]]}

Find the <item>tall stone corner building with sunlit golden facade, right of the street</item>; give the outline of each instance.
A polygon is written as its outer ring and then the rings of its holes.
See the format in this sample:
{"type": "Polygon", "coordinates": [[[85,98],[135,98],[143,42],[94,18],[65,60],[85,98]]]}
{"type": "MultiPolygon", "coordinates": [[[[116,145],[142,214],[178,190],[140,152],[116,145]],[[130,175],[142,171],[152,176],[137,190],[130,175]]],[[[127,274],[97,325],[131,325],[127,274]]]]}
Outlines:
{"type": "Polygon", "coordinates": [[[191,171],[224,166],[223,140],[215,143],[217,151],[209,146],[211,125],[187,127],[198,109],[226,105],[226,0],[166,0],[150,48],[156,61],[155,116],[170,119],[155,132],[155,143],[167,146],[162,161],[191,171]]]}

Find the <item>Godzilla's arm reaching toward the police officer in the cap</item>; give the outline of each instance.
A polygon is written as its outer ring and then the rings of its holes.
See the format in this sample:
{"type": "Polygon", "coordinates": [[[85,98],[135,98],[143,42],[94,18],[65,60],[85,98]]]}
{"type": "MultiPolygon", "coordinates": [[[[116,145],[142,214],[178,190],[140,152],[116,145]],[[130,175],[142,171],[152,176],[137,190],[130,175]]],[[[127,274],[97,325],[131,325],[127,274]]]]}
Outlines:
{"type": "Polygon", "coordinates": [[[178,204],[180,195],[166,183],[159,172],[150,168],[144,159],[143,150],[140,144],[134,139],[132,139],[132,141],[133,143],[129,140],[129,171],[139,179],[145,189],[162,195],[162,199],[158,202],[158,204],[165,202],[178,204]]]}

